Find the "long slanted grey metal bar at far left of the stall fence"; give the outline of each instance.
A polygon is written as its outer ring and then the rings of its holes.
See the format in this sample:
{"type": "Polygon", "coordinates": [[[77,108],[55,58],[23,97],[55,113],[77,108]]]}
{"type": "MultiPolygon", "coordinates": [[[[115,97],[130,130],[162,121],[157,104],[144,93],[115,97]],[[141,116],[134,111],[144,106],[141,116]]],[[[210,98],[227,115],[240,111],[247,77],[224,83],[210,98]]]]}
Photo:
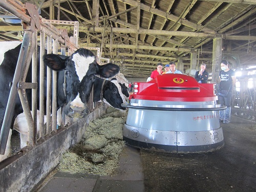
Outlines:
{"type": "Polygon", "coordinates": [[[11,87],[11,91],[10,91],[10,95],[9,95],[8,103],[6,107],[5,117],[3,120],[2,129],[1,129],[1,134],[0,134],[0,154],[1,155],[5,154],[6,144],[8,140],[8,135],[9,135],[10,126],[12,122],[12,116],[13,116],[14,107],[15,107],[14,103],[17,98],[17,89],[18,89],[17,84],[20,78],[22,77],[22,74],[20,72],[23,71],[24,69],[24,63],[25,63],[25,58],[28,51],[30,37],[31,37],[31,32],[26,31],[24,34],[22,47],[19,52],[17,66],[15,69],[14,77],[13,77],[13,86],[11,87]]]}

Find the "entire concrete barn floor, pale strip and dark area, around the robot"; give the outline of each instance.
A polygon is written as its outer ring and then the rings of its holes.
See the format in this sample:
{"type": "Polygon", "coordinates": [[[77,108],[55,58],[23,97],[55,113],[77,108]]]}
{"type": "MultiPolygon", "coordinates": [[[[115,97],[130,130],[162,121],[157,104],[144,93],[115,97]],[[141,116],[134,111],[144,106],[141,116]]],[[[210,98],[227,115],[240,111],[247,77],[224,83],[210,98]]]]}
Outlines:
{"type": "Polygon", "coordinates": [[[113,176],[55,173],[37,192],[256,191],[256,122],[232,116],[225,146],[205,154],[167,154],[125,146],[113,176]]]}

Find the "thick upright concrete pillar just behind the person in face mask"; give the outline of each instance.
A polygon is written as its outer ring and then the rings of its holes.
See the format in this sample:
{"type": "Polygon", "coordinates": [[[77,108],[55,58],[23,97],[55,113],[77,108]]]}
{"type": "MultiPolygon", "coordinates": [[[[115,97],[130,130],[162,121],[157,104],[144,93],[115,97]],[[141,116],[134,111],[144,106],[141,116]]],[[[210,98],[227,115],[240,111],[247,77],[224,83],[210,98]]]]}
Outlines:
{"type": "Polygon", "coordinates": [[[222,38],[213,39],[212,45],[212,80],[211,82],[219,82],[220,63],[222,60],[222,38]]]}

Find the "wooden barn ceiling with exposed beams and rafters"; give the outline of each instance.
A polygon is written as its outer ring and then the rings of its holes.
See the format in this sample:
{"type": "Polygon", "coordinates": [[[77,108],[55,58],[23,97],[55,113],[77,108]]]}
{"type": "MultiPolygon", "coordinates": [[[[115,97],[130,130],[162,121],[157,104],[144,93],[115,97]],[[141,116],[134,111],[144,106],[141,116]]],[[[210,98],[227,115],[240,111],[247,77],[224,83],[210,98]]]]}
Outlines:
{"type": "MultiPolygon", "coordinates": [[[[13,0],[8,0],[13,1],[13,0]]],[[[211,71],[212,39],[223,38],[222,57],[233,68],[256,64],[255,0],[23,0],[42,18],[78,21],[79,47],[98,47],[125,77],[150,76],[157,63],[184,63],[197,53],[211,71]]],[[[4,9],[0,14],[8,14],[4,9]]],[[[0,23],[0,40],[22,39],[20,24],[0,23]]],[[[73,27],[58,25],[73,35],[73,27]]]]}

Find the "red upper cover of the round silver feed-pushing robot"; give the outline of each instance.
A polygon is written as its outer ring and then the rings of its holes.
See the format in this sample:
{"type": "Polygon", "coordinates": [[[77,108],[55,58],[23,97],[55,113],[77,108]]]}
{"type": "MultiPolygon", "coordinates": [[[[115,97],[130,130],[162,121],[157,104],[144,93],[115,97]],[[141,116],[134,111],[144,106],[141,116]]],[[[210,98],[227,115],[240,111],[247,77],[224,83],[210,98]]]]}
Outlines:
{"type": "Polygon", "coordinates": [[[199,102],[217,100],[215,83],[198,83],[183,74],[158,75],[149,82],[135,82],[130,99],[199,102]]]}

